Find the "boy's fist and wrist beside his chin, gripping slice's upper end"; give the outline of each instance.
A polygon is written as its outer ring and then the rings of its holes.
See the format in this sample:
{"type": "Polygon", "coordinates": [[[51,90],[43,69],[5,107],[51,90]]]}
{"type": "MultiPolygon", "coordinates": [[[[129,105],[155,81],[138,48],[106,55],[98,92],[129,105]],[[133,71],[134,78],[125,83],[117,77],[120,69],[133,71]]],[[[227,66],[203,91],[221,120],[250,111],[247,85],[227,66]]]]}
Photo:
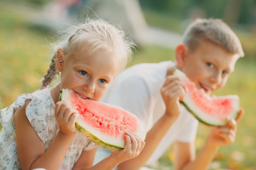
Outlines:
{"type": "Polygon", "coordinates": [[[178,117],[180,115],[180,101],[182,101],[186,87],[180,81],[180,78],[174,75],[168,75],[160,92],[166,106],[166,115],[178,117]]]}

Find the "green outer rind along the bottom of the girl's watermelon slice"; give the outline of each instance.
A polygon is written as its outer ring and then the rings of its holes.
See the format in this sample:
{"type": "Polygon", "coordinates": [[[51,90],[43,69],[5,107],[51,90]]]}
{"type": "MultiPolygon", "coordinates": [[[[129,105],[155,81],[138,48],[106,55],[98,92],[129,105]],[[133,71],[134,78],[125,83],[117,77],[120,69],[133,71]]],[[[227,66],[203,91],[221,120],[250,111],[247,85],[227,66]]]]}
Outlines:
{"type": "Polygon", "coordinates": [[[101,139],[99,139],[98,137],[94,136],[88,130],[86,130],[85,128],[80,126],[80,124],[78,122],[75,123],[75,126],[76,126],[76,130],[78,130],[81,134],[83,134],[84,136],[88,137],[95,144],[97,144],[97,145],[99,145],[99,146],[101,146],[103,148],[110,149],[110,150],[121,150],[121,149],[124,149],[123,147],[119,147],[119,146],[115,146],[115,145],[103,142],[101,139]]]}

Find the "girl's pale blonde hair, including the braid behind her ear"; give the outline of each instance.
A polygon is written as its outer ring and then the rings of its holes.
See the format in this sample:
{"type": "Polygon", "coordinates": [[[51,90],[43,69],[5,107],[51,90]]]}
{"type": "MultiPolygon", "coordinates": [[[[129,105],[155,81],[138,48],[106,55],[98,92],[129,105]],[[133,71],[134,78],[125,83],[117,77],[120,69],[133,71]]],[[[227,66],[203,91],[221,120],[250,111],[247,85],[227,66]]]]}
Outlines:
{"type": "Polygon", "coordinates": [[[66,57],[90,57],[93,53],[104,53],[115,57],[122,71],[131,60],[134,42],[126,37],[119,25],[111,24],[101,18],[86,18],[78,21],[64,31],[57,33],[59,39],[52,43],[52,62],[42,80],[42,88],[47,87],[58,75],[56,69],[56,51],[63,49],[63,60],[66,57]],[[121,60],[120,60],[121,59],[121,60]]]}

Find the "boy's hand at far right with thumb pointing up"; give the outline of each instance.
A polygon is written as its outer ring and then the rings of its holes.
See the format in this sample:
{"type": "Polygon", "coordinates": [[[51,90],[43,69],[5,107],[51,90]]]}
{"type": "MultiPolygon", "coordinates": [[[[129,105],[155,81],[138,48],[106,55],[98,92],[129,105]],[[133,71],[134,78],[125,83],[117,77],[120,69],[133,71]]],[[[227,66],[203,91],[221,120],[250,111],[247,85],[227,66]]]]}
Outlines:
{"type": "Polygon", "coordinates": [[[207,145],[219,147],[227,146],[234,143],[237,131],[237,122],[243,117],[244,110],[240,109],[238,117],[235,119],[228,119],[225,126],[213,126],[207,138],[207,145]]]}

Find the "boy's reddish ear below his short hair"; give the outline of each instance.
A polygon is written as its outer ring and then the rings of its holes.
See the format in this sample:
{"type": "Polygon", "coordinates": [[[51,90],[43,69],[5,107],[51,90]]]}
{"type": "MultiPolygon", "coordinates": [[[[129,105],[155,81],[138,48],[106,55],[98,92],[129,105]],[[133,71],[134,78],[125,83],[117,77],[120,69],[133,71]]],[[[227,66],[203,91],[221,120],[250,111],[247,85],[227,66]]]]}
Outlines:
{"type": "Polygon", "coordinates": [[[187,54],[187,47],[185,44],[179,44],[175,49],[175,59],[177,62],[177,66],[183,67],[185,63],[185,57],[187,54]]]}

